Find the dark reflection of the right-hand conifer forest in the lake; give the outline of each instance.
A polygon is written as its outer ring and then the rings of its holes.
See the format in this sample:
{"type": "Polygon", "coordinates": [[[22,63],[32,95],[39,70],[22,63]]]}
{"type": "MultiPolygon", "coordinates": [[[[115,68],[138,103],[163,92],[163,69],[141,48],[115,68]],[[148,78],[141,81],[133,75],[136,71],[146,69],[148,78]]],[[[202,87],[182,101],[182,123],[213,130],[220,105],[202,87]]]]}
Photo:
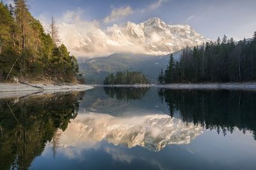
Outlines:
{"type": "Polygon", "coordinates": [[[170,115],[179,111],[184,122],[216,129],[224,136],[238,128],[256,139],[255,92],[161,89],[159,97],[168,104],[170,115]]]}

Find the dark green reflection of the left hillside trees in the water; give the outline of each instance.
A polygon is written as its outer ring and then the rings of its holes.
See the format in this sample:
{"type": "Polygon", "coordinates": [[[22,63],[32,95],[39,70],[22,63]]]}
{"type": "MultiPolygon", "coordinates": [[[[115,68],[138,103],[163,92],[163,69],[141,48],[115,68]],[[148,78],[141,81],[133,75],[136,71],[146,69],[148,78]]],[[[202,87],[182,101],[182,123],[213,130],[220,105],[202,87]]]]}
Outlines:
{"type": "Polygon", "coordinates": [[[77,93],[47,94],[0,100],[0,169],[28,169],[45,144],[58,145],[58,129],[65,131],[77,116],[77,93]]]}

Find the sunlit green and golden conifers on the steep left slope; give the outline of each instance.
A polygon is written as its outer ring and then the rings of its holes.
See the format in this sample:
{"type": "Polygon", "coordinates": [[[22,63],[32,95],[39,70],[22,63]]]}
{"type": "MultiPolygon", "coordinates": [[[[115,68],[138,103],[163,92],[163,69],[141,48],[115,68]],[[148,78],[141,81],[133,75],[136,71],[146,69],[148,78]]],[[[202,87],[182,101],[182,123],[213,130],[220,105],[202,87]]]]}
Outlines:
{"type": "Polygon", "coordinates": [[[29,13],[25,0],[14,4],[0,3],[0,81],[12,76],[74,80],[77,60],[60,45],[54,19],[50,34],[46,34],[39,20],[29,13]]]}

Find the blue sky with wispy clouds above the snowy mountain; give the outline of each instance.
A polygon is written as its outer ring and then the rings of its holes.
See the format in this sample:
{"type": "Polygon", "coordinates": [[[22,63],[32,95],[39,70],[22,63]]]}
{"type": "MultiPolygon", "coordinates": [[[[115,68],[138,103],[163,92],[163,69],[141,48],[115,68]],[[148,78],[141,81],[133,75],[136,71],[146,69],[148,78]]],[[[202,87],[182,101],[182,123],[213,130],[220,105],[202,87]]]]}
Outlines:
{"type": "MultiPolygon", "coordinates": [[[[83,23],[84,30],[106,28],[128,20],[140,23],[159,17],[167,24],[188,24],[215,40],[224,34],[236,40],[256,31],[255,0],[27,0],[32,15],[49,22],[83,23]]],[[[5,0],[12,3],[12,0],[5,0]]]]}

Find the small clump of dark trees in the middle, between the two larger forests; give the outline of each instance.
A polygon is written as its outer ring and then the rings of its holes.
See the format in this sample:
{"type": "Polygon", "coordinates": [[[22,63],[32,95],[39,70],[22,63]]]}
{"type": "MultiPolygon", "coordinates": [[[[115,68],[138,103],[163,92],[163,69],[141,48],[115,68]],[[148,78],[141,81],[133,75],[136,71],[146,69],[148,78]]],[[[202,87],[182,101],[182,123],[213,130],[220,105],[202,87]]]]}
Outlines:
{"type": "Polygon", "coordinates": [[[140,71],[118,71],[106,76],[104,85],[148,84],[146,76],[140,71]]]}

